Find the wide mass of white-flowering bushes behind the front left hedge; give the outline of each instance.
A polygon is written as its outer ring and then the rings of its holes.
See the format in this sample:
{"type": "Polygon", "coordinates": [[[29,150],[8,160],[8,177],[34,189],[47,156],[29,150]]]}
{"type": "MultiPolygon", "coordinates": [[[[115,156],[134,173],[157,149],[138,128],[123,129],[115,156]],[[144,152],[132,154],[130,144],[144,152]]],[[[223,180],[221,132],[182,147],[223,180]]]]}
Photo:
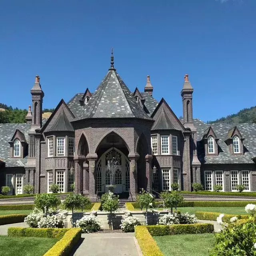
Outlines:
{"type": "Polygon", "coordinates": [[[31,228],[64,228],[67,211],[54,211],[49,209],[49,214],[43,213],[42,210],[34,208],[33,212],[29,214],[24,222],[31,228]]]}

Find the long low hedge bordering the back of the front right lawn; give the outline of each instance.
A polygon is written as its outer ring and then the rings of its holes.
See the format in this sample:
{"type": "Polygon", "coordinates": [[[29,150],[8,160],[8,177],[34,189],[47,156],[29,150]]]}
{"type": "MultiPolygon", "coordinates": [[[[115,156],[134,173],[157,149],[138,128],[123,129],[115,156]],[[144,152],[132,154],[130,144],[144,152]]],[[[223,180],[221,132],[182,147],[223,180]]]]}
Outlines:
{"type": "Polygon", "coordinates": [[[178,234],[204,234],[213,233],[214,225],[209,223],[153,225],[147,226],[151,236],[168,236],[178,234]]]}

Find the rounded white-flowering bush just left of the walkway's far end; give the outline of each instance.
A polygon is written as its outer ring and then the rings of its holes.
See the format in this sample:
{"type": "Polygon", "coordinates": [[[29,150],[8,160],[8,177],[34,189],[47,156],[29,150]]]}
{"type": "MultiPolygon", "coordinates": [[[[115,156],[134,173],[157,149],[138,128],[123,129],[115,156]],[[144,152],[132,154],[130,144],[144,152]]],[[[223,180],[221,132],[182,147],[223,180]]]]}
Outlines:
{"type": "Polygon", "coordinates": [[[101,228],[99,219],[93,215],[87,215],[77,220],[75,223],[77,228],[82,228],[84,233],[98,232],[101,228]]]}

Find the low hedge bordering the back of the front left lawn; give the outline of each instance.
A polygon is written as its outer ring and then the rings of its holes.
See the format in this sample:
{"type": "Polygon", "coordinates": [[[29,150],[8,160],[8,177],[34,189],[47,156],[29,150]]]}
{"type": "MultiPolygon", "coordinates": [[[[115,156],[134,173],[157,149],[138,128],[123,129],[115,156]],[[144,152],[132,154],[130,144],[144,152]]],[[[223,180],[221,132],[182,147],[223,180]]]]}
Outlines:
{"type": "Polygon", "coordinates": [[[62,238],[70,228],[8,228],[8,236],[62,238]]]}

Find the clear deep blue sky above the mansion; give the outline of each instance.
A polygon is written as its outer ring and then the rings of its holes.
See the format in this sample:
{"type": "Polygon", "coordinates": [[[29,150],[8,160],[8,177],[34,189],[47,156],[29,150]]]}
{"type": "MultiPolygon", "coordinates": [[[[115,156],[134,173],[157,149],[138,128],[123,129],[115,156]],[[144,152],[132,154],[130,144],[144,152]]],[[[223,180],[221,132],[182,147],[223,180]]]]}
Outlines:
{"type": "Polygon", "coordinates": [[[31,104],[40,75],[43,108],[88,87],[110,66],[131,91],[153,95],[182,115],[184,74],[194,118],[214,120],[256,105],[256,0],[1,0],[0,102],[31,104]]]}

